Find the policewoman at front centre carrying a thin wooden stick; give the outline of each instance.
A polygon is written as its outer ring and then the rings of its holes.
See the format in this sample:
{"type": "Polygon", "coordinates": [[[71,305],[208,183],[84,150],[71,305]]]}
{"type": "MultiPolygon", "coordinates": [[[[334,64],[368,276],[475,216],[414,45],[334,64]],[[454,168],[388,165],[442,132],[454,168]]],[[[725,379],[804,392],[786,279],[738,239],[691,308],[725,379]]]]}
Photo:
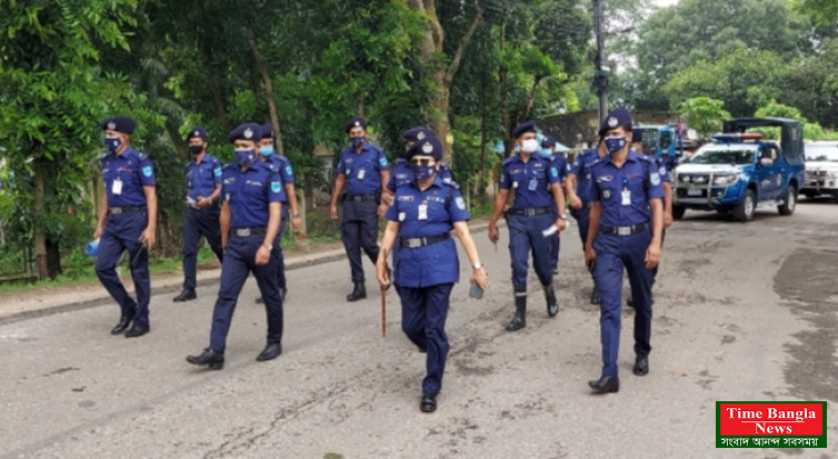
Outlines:
{"type": "Polygon", "coordinates": [[[410,147],[408,158],[413,180],[396,190],[387,211],[389,221],[376,277],[380,286],[389,285],[387,253],[395,245],[401,246],[393,259],[393,276],[400,286],[401,329],[426,352],[427,376],[419,409],[432,412],[449,349],[445,330],[448,306],[460,272],[452,229],[473,268],[470,280],[486,289],[487,278],[468,229],[466,202],[458,188],[439,176],[442,144],[436,137],[427,137],[410,147]]]}

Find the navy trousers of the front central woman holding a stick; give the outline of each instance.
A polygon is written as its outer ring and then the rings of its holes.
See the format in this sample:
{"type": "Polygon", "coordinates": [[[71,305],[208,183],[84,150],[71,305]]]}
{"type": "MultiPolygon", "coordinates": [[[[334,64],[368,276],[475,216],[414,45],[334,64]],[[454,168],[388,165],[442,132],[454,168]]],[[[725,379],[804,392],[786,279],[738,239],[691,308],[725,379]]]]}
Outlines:
{"type": "Polygon", "coordinates": [[[437,395],[448,357],[446,319],[453,283],[431,287],[401,287],[401,330],[426,355],[422,392],[437,395]]]}

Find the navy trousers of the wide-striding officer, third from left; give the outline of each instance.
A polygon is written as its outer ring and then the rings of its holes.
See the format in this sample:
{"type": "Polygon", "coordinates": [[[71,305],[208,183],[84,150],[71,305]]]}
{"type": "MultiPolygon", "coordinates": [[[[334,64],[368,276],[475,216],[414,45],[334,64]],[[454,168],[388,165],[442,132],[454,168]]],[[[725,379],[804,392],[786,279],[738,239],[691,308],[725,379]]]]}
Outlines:
{"type": "Polygon", "coordinates": [[[221,286],[212,310],[212,329],[210,330],[210,349],[216,352],[223,353],[227,348],[227,333],[230,331],[232,313],[250,272],[253,273],[265,299],[268,316],[266,341],[268,345],[282,341],[282,301],[279,298],[279,286],[277,286],[277,258],[270,257],[267,265],[256,265],[256,252],[263,240],[262,235],[247,238],[231,236],[227,242],[225,261],[221,263],[221,286]]]}

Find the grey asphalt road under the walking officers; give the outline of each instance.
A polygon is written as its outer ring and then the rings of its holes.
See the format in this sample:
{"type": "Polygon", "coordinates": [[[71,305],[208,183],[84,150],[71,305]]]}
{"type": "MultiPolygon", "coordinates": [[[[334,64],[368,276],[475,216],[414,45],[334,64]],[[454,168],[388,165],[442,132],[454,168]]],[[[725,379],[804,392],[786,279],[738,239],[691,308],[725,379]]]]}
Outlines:
{"type": "Polygon", "coordinates": [[[252,279],[221,371],[184,361],[207,346],[215,285],[189,303],[154,296],[140,339],[109,335],[111,302],[2,322],[0,458],[838,456],[838,204],[760,209],[747,224],[688,211],[655,287],[651,371],[631,375],[626,308],[621,388],[608,396],[587,387],[599,311],[576,227],[562,237],[561,312],[547,318],[530,275],[528,327],[515,333],[507,232],[497,252],[475,236],[491,287],[480,301],[467,282],[455,289],[436,413],[418,409],[425,356],[400,332],[398,297],[382,338],[371,265],[372,295],[347,303],[349,267],[332,257],[289,271],[285,353],[270,362],[255,361],[265,312],[252,279]],[[829,448],[716,450],[717,400],[827,400],[829,448]]]}

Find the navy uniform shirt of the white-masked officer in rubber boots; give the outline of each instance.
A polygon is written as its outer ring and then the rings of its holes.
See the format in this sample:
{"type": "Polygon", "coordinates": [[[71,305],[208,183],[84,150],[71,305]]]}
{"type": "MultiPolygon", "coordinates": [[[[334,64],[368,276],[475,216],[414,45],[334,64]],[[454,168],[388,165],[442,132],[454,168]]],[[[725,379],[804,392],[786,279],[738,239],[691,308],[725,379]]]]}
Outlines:
{"type": "Polygon", "coordinates": [[[550,186],[558,182],[559,171],[539,154],[530,156],[526,163],[519,156],[503,160],[500,188],[515,190],[513,209],[555,206],[550,186]]]}

